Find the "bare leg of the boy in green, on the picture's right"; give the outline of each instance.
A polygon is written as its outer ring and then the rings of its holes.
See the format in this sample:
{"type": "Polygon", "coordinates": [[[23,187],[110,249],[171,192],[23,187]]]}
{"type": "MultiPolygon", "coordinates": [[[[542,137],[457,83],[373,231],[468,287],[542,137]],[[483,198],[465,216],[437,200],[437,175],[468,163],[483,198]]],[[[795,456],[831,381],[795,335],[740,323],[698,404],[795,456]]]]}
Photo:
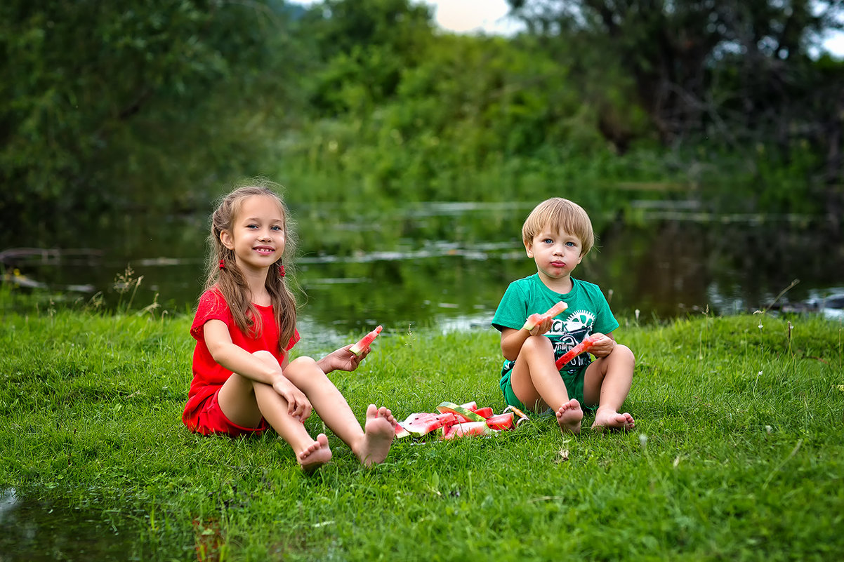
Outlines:
{"type": "Polygon", "coordinates": [[[592,429],[607,427],[631,430],[635,424],[630,413],[619,413],[633,384],[636,357],[625,345],[616,344],[609,355],[595,359],[583,377],[583,401],[598,404],[592,429]]]}

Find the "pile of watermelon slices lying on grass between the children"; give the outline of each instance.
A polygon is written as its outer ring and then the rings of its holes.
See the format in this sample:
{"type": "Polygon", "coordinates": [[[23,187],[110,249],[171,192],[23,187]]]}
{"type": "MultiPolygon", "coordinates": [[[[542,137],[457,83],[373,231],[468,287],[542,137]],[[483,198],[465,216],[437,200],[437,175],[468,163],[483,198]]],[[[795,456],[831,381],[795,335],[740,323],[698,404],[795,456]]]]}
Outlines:
{"type": "Polygon", "coordinates": [[[455,404],[441,403],[436,413],[411,413],[407,419],[396,425],[396,437],[426,435],[451,440],[464,435],[493,435],[498,431],[511,430],[527,416],[517,408],[508,406],[504,413],[494,415],[492,408],[478,408],[469,402],[455,404]]]}

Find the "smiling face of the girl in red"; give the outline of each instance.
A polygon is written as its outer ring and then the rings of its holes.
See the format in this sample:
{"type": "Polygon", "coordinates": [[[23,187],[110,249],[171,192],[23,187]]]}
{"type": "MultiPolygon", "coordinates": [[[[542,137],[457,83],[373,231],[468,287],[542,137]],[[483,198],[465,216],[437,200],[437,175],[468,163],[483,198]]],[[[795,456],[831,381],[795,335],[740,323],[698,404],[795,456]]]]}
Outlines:
{"type": "Polygon", "coordinates": [[[219,240],[235,252],[242,271],[266,273],[284,253],[284,212],[273,197],[246,197],[231,230],[223,230],[219,240]]]}

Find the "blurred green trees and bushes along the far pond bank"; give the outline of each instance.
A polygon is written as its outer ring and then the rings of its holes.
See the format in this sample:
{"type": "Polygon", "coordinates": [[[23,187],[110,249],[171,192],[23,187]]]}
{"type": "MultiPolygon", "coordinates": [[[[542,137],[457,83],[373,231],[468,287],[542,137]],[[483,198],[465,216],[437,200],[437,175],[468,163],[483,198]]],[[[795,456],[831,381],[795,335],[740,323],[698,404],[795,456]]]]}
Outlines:
{"type": "Polygon", "coordinates": [[[647,181],[844,214],[844,63],[810,51],[841,2],[511,4],[527,33],[441,33],[410,0],[3,3],[0,217],[43,245],[256,175],[314,203],[647,181]]]}

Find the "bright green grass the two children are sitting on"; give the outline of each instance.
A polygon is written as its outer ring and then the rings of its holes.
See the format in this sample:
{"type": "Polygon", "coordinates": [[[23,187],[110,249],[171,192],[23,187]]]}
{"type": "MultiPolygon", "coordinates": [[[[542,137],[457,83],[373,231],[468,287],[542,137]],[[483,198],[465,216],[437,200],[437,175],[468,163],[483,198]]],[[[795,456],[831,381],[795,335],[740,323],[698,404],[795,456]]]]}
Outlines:
{"type": "MultiPolygon", "coordinates": [[[[398,441],[371,469],[329,435],[333,462],[306,477],[272,433],[181,425],[190,320],[7,313],[0,488],[101,513],[130,532],[127,559],[197,559],[203,538],[223,560],[844,556],[841,323],[627,323],[630,434],[564,438],[533,419],[495,438],[398,441]]],[[[442,400],[500,411],[499,363],[491,329],[399,332],[332,378],[359,419],[370,402],[400,419],[442,400]]]]}

